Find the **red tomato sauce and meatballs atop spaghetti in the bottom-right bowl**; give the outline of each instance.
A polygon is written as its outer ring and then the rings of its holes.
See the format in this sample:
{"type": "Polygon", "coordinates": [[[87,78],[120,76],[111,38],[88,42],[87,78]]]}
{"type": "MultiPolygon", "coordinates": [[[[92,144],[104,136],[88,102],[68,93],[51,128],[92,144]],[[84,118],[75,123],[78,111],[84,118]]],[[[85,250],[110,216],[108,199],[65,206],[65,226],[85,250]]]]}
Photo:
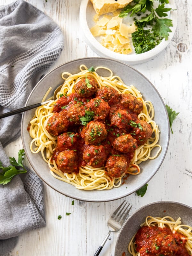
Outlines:
{"type": "Polygon", "coordinates": [[[173,234],[170,228],[153,226],[140,228],[135,236],[136,250],[140,256],[188,256],[186,241],[187,237],[173,234]]]}

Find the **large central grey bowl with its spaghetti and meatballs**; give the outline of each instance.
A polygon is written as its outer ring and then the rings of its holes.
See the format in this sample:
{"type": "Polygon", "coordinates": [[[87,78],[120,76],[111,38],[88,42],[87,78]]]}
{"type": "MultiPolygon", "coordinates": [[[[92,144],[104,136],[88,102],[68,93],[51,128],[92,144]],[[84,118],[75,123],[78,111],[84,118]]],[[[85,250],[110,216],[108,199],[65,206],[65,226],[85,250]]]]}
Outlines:
{"type": "Polygon", "coordinates": [[[23,114],[21,138],[35,172],[61,194],[115,200],[161,166],[168,115],[156,88],[134,68],[107,58],[69,61],[39,81],[26,105],[45,100],[23,114]]]}

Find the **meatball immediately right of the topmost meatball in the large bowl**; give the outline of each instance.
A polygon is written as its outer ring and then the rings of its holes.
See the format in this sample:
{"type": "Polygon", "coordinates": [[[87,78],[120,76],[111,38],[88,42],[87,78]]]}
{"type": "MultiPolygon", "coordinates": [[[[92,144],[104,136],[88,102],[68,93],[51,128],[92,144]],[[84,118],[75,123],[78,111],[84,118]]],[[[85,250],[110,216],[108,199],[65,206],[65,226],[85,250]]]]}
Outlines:
{"type": "Polygon", "coordinates": [[[102,86],[97,90],[95,96],[103,99],[111,106],[118,102],[119,93],[111,86],[102,86]]]}

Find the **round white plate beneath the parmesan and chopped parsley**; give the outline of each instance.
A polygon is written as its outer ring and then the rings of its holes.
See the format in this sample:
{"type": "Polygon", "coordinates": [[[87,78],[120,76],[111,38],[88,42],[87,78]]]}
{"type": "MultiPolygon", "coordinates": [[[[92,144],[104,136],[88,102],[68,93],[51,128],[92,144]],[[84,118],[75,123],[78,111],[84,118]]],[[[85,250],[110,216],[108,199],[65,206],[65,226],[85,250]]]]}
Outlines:
{"type": "MultiPolygon", "coordinates": [[[[169,1],[169,8],[173,10],[176,9],[174,0],[169,1]]],[[[131,54],[120,54],[108,50],[104,46],[102,46],[99,41],[92,35],[90,28],[94,25],[93,17],[95,16],[96,12],[93,9],[93,5],[90,0],[82,0],[80,6],[80,25],[82,28],[82,33],[86,42],[92,48],[94,52],[96,52],[101,57],[108,57],[114,60],[122,61],[129,65],[140,64],[146,62],[148,60],[152,60],[155,56],[157,56],[160,52],[162,52],[165,47],[171,42],[172,37],[175,33],[175,29],[177,27],[177,11],[171,11],[169,15],[165,18],[171,19],[173,23],[173,27],[170,27],[172,32],[169,33],[168,40],[163,39],[160,44],[158,44],[155,48],[148,52],[144,52],[141,54],[136,54],[132,52],[131,54]]]]}

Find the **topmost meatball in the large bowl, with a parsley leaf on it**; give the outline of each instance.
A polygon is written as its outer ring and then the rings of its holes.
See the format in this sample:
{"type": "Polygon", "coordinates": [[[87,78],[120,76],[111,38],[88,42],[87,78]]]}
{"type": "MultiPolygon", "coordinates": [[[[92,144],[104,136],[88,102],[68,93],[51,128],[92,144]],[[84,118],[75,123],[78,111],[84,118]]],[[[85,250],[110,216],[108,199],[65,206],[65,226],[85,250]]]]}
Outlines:
{"type": "Polygon", "coordinates": [[[74,86],[74,90],[79,96],[90,98],[97,91],[98,87],[97,81],[88,76],[77,82],[74,86]]]}

